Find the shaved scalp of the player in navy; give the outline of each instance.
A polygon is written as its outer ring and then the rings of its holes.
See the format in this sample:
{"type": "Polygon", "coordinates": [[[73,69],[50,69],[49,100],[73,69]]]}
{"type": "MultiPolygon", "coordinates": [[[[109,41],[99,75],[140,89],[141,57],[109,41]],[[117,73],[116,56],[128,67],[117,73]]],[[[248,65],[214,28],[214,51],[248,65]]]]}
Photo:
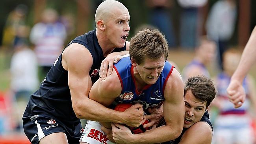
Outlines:
{"type": "Polygon", "coordinates": [[[121,2],[118,2],[116,0],[106,0],[102,2],[96,9],[96,13],[95,13],[96,25],[98,20],[108,21],[109,17],[111,17],[111,15],[114,14],[113,11],[115,10],[128,11],[128,9],[121,2]]]}

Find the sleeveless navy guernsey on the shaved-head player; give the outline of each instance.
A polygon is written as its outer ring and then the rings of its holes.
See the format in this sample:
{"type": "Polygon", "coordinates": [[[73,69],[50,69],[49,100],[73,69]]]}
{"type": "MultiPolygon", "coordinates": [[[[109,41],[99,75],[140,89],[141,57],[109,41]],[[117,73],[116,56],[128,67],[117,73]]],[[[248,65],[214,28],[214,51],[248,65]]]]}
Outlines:
{"type": "MultiPolygon", "coordinates": [[[[98,73],[100,64],[105,58],[96,37],[96,31],[89,31],[84,35],[76,37],[67,46],[72,43],[82,44],[91,53],[93,57],[93,65],[91,66],[89,75],[94,83],[99,78],[98,73]]],[[[124,45],[123,48],[115,48],[113,52],[120,52],[123,50],[126,50],[126,45],[124,45]]],[[[31,118],[32,116],[37,115],[32,118],[34,120],[38,117],[38,114],[39,117],[40,114],[47,115],[56,120],[56,122],[60,121],[72,130],[74,130],[75,126],[80,124],[80,119],[76,117],[72,109],[68,86],[68,71],[66,71],[61,64],[61,55],[62,53],[52,65],[52,68],[41,83],[39,90],[33,93],[30,97],[30,101],[23,115],[24,126],[26,126],[26,122],[30,121],[28,117],[31,118]]]]}

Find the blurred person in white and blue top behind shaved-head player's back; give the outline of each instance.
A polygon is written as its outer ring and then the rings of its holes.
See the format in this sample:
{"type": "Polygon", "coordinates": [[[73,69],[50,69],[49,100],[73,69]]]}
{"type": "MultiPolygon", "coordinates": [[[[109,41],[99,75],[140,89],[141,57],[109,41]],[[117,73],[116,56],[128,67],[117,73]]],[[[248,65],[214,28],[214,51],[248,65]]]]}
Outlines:
{"type": "Polygon", "coordinates": [[[66,39],[65,26],[58,22],[58,13],[54,9],[45,9],[42,22],[33,26],[30,41],[35,44],[38,64],[46,76],[54,61],[58,58],[66,39]]]}

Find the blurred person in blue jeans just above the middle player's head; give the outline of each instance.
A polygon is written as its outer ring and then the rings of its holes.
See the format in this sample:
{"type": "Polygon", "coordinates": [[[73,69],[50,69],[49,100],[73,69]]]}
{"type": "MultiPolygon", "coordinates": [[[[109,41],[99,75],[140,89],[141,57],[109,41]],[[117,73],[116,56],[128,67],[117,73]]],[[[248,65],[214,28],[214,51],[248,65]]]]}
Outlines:
{"type": "Polygon", "coordinates": [[[169,47],[176,46],[176,38],[171,18],[173,0],[147,0],[146,5],[150,8],[150,24],[158,28],[166,37],[169,47]]]}

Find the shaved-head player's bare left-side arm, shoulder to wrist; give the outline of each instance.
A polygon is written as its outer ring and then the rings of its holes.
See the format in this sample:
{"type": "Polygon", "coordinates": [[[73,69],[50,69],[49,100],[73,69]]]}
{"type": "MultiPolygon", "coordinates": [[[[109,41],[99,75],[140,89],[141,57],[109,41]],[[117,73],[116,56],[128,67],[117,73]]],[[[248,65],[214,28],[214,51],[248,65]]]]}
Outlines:
{"type": "Polygon", "coordinates": [[[70,44],[63,51],[62,65],[65,70],[68,70],[68,83],[74,112],[78,118],[82,119],[120,122],[120,114],[117,111],[108,109],[88,98],[92,86],[89,76],[92,63],[93,59],[90,52],[80,44],[70,44]],[[95,111],[95,107],[97,111],[95,111]]]}

